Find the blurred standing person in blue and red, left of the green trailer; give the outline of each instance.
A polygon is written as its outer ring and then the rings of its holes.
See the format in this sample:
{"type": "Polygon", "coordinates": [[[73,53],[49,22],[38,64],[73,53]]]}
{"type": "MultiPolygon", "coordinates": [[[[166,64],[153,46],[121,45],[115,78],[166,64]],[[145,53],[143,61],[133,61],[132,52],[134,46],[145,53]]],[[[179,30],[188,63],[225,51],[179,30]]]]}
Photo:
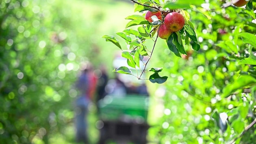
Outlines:
{"type": "Polygon", "coordinates": [[[88,114],[88,105],[92,102],[96,83],[97,78],[95,78],[93,74],[93,67],[88,63],[76,81],[76,88],[80,91],[80,96],[75,101],[75,127],[77,142],[84,142],[85,144],[88,143],[88,124],[86,118],[88,114]]]}

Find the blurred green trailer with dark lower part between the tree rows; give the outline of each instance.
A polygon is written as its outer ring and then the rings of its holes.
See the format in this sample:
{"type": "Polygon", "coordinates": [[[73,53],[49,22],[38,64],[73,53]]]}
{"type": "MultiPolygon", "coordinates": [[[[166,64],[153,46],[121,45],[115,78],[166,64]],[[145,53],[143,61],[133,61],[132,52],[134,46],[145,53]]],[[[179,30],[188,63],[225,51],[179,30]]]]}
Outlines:
{"type": "Polygon", "coordinates": [[[100,100],[99,116],[100,144],[108,141],[118,143],[145,144],[148,131],[148,105],[146,95],[106,95],[100,100]]]}

